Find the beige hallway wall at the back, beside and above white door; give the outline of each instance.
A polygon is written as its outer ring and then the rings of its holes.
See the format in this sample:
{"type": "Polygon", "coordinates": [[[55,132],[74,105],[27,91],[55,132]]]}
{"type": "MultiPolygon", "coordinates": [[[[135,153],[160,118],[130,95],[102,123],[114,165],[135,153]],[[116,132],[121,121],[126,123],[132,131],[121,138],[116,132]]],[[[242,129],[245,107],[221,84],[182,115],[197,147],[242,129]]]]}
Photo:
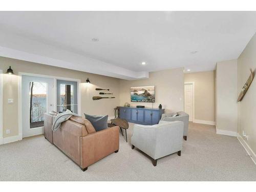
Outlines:
{"type": "Polygon", "coordinates": [[[185,82],[195,82],[195,120],[215,121],[215,71],[184,74],[185,82]]]}

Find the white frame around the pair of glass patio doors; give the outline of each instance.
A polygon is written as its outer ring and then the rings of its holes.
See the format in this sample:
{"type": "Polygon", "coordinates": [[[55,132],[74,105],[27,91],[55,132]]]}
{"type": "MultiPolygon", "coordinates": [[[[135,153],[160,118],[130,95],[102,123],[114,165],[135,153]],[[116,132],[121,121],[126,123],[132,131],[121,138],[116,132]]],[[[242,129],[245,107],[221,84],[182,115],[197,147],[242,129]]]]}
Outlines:
{"type": "MultiPolygon", "coordinates": [[[[22,131],[23,131],[23,121],[22,121],[22,76],[34,76],[34,77],[42,77],[42,78],[52,78],[54,80],[54,88],[57,86],[57,79],[58,80],[67,80],[67,81],[76,81],[77,82],[77,105],[78,105],[78,115],[81,115],[81,80],[80,79],[73,79],[73,78],[66,78],[66,77],[58,77],[58,76],[51,76],[51,75],[41,75],[41,74],[34,74],[34,73],[25,73],[25,72],[18,72],[18,140],[22,140],[22,131]]],[[[57,90],[54,89],[54,111],[57,110],[57,90]]]]}

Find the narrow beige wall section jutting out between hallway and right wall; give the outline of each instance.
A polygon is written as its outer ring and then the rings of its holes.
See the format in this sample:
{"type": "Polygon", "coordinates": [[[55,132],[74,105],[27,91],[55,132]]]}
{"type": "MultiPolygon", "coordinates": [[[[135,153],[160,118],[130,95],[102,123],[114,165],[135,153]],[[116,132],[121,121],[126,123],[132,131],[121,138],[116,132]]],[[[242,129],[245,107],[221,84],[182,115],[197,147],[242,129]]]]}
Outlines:
{"type": "Polygon", "coordinates": [[[237,59],[217,62],[216,131],[237,136],[238,132],[238,63],[237,59]]]}

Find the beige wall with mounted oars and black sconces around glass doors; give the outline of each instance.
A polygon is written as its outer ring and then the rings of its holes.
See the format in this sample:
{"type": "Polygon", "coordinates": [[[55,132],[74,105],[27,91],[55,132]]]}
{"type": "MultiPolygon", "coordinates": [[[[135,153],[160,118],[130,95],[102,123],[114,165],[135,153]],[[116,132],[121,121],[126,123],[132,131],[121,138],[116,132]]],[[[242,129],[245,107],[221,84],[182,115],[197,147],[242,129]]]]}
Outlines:
{"type": "Polygon", "coordinates": [[[43,74],[81,80],[81,114],[114,116],[114,108],[119,105],[119,79],[79,72],[47,65],[40,65],[22,60],[0,57],[0,69],[3,73],[12,67],[14,75],[3,74],[3,136],[18,135],[18,72],[43,74]],[[86,83],[90,78],[91,84],[86,83]],[[95,88],[107,88],[113,93],[115,99],[92,100],[92,96],[98,95],[95,88]],[[13,98],[14,103],[8,104],[8,98],[13,98]],[[10,129],[10,134],[6,130],[10,129]]]}

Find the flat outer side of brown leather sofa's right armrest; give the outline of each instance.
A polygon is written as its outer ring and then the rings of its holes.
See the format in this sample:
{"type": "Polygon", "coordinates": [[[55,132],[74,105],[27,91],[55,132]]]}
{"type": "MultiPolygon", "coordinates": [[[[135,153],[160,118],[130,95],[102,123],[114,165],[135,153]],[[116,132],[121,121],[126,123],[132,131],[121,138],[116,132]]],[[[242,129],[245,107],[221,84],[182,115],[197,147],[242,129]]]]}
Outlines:
{"type": "Polygon", "coordinates": [[[80,137],[80,167],[86,168],[119,150],[119,126],[80,137]]]}

